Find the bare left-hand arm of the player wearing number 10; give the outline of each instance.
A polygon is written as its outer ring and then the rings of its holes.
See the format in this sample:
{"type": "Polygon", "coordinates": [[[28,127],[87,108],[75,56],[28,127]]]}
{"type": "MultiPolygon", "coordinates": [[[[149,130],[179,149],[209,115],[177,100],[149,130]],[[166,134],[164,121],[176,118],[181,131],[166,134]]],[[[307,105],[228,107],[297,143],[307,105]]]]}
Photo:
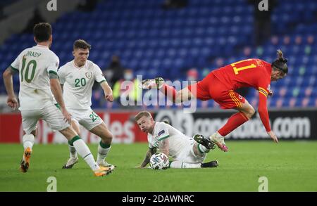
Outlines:
{"type": "Polygon", "coordinates": [[[13,80],[12,76],[15,73],[11,67],[8,67],[4,71],[4,86],[6,87],[6,93],[8,94],[8,99],[6,103],[9,107],[15,109],[18,108],[18,100],[15,98],[14,90],[13,90],[13,80]]]}

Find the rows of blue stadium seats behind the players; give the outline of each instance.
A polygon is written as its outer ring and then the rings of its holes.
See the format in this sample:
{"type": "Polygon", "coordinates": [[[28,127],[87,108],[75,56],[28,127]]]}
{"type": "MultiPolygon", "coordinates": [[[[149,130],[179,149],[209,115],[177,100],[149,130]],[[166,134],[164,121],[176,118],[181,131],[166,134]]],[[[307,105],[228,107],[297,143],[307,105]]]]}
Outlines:
{"type": "MultiPolygon", "coordinates": [[[[316,91],[306,95],[309,88],[317,88],[316,1],[280,0],[273,9],[273,37],[258,48],[251,40],[254,8],[247,1],[189,1],[186,8],[170,10],[161,9],[161,4],[156,0],[110,0],[99,2],[89,13],[66,13],[53,24],[51,49],[61,64],[66,63],[73,58],[73,41],[86,39],[92,44],[89,58],[99,66],[105,67],[117,54],[123,66],[132,68],[135,74],[172,79],[185,79],[182,71],[188,67],[213,70],[219,66],[217,58],[224,64],[254,57],[272,62],[276,49],[282,49],[290,72],[285,79],[272,83],[275,96],[270,98],[270,107],[316,106],[316,91]],[[251,53],[245,55],[244,48],[250,48],[251,53]],[[283,95],[279,90],[285,88],[283,95]]],[[[7,39],[0,46],[1,70],[25,47],[33,45],[32,34],[15,34],[7,39]]],[[[13,81],[18,84],[16,77],[13,81]]],[[[256,91],[247,97],[257,99],[256,91]]],[[[210,101],[199,103],[199,107],[217,105],[210,101]]],[[[111,108],[118,108],[118,103],[111,108]]]]}

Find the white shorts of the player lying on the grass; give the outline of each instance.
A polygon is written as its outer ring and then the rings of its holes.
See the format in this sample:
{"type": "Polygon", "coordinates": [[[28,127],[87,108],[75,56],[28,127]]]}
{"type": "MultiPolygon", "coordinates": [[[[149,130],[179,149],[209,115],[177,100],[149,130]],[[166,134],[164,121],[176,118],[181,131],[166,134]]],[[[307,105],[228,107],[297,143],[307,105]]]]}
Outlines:
{"type": "Polygon", "coordinates": [[[182,152],[180,152],[180,154],[177,157],[175,157],[175,160],[192,164],[204,162],[206,158],[206,153],[204,153],[203,156],[195,155],[193,150],[193,146],[195,143],[196,141],[194,141],[194,139],[189,138],[187,146],[182,149],[182,152]]]}

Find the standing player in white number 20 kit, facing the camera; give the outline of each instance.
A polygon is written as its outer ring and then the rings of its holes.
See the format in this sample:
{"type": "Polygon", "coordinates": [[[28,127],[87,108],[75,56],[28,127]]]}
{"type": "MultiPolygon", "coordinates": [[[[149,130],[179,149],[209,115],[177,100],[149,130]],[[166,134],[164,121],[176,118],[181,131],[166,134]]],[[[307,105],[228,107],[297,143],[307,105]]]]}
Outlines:
{"type": "MultiPolygon", "coordinates": [[[[58,77],[63,87],[63,98],[67,110],[72,115],[71,124],[77,134],[80,134],[81,124],[101,138],[98,146],[97,164],[103,167],[111,167],[105,158],[111,148],[112,134],[103,120],[92,110],[92,86],[94,81],[99,82],[104,90],[106,100],[113,101],[111,87],[106,82],[98,65],[87,60],[91,46],[82,39],[78,39],[73,45],[74,60],[66,63],[58,70],[58,77]]],[[[78,162],[76,149],[68,144],[70,158],[63,169],[72,168],[78,162]]]]}

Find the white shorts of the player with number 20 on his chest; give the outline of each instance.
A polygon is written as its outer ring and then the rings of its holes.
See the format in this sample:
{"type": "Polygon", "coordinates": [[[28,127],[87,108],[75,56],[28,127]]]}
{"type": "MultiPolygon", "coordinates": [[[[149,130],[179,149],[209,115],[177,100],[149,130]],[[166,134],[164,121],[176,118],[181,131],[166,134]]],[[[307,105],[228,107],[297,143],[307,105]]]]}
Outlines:
{"type": "Polygon", "coordinates": [[[89,131],[104,122],[91,108],[87,110],[68,109],[68,112],[72,115],[72,120],[81,124],[82,127],[85,127],[89,131]]]}

